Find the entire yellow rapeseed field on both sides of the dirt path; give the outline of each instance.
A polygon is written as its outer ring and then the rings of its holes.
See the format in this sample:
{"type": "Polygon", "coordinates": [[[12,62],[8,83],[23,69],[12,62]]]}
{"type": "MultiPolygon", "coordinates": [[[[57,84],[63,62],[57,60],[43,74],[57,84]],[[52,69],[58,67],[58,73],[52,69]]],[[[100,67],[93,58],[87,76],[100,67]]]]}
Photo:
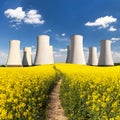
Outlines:
{"type": "Polygon", "coordinates": [[[49,94],[62,78],[69,120],[120,120],[120,66],[55,64],[0,68],[0,120],[45,120],[49,94]]]}

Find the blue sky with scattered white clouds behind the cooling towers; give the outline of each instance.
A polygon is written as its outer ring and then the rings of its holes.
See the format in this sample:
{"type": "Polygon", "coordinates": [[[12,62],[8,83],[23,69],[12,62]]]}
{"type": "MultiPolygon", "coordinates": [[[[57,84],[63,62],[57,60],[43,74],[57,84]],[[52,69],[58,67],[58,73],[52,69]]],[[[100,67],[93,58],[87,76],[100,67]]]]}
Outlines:
{"type": "Polygon", "coordinates": [[[50,36],[56,62],[66,58],[70,36],[83,35],[84,52],[100,40],[112,40],[115,62],[120,62],[120,0],[1,0],[0,64],[6,63],[9,40],[36,49],[36,37],[50,36]]]}

